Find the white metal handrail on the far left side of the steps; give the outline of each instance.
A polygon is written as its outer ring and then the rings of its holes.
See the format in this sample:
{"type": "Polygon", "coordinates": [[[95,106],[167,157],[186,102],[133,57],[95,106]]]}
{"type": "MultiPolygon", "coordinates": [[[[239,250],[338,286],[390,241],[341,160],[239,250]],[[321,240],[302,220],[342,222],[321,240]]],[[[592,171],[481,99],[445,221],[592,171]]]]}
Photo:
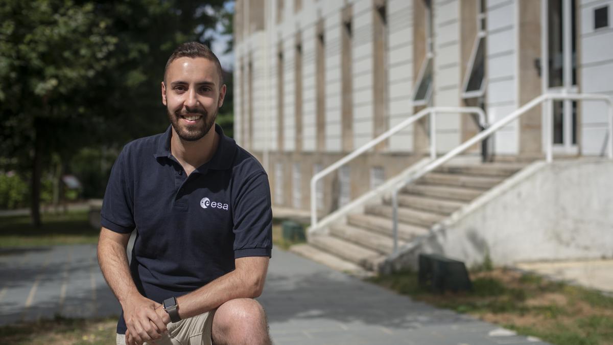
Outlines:
{"type": "Polygon", "coordinates": [[[372,139],[366,144],[362,145],[354,152],[349,153],[345,157],[341,158],[338,161],[332,163],[332,165],[328,166],[326,169],[318,172],[311,178],[311,226],[310,231],[314,230],[317,226],[317,201],[316,201],[316,193],[317,193],[317,182],[322,179],[330,172],[337,170],[341,166],[345,165],[349,161],[358,157],[362,153],[372,149],[375,145],[379,144],[379,142],[384,141],[390,136],[398,133],[398,131],[403,130],[406,126],[411,125],[411,123],[416,122],[420,118],[425,115],[430,114],[430,157],[432,159],[436,158],[436,113],[463,113],[463,114],[477,114],[479,116],[479,125],[481,128],[487,127],[487,119],[485,117],[485,112],[483,109],[479,107],[428,107],[426,109],[422,109],[417,114],[407,118],[403,122],[398,123],[390,130],[387,130],[385,133],[380,134],[377,138],[372,139]]]}

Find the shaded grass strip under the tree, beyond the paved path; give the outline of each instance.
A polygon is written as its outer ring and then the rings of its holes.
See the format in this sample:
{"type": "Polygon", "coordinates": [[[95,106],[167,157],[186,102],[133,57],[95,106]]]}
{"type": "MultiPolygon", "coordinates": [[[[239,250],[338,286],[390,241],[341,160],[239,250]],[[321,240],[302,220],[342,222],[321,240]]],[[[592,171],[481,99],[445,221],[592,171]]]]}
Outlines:
{"type": "Polygon", "coordinates": [[[53,246],[56,244],[92,244],[99,229],[89,225],[86,211],[42,214],[42,227],[31,225],[29,215],[0,218],[0,247],[53,246]]]}

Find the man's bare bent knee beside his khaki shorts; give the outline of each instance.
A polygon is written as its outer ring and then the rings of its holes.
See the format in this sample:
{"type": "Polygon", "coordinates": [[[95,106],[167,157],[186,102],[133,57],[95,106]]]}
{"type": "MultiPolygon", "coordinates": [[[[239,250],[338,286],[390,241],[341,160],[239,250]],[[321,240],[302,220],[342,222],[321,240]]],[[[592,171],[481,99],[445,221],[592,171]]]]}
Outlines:
{"type": "Polygon", "coordinates": [[[213,317],[215,345],[270,345],[264,308],[251,298],[221,304],[213,317]]]}

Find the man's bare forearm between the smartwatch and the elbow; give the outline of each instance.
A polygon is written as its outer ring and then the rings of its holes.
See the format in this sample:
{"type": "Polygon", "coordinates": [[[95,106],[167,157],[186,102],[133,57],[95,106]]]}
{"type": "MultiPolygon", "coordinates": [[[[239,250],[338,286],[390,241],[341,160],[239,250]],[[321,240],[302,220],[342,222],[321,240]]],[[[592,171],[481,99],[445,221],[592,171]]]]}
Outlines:
{"type": "Polygon", "coordinates": [[[177,298],[181,319],[196,316],[235,298],[256,298],[262,293],[268,257],[237,260],[237,268],[200,289],[177,298]]]}

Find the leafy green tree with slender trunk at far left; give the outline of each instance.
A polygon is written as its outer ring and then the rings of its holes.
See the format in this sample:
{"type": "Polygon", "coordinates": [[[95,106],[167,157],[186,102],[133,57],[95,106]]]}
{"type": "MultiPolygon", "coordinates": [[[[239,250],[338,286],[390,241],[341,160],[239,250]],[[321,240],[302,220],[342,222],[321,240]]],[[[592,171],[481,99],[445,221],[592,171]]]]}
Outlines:
{"type": "Polygon", "coordinates": [[[7,0],[0,17],[2,142],[31,160],[32,222],[40,226],[42,164],[65,139],[53,131],[82,123],[82,90],[112,65],[117,38],[91,3],[7,0]]]}

